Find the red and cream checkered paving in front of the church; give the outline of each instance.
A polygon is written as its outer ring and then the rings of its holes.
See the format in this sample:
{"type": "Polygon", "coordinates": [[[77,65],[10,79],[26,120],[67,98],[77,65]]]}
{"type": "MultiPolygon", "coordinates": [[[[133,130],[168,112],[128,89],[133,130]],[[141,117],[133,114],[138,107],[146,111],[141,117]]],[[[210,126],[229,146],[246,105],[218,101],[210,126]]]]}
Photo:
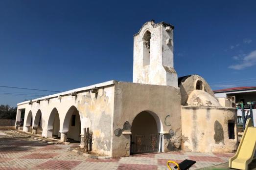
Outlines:
{"type": "Polygon", "coordinates": [[[166,162],[195,160],[190,170],[228,162],[231,153],[168,152],[97,160],[67,150],[71,145],[47,145],[9,130],[0,130],[0,170],[168,170],[166,162]]]}

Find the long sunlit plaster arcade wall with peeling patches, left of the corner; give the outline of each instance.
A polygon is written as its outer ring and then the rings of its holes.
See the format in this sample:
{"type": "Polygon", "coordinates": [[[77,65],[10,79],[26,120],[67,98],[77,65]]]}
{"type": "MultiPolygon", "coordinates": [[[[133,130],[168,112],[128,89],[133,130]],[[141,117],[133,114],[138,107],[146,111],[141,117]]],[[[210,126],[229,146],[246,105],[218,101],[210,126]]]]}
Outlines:
{"type": "MultiPolygon", "coordinates": [[[[71,107],[75,107],[79,112],[81,121],[81,131],[79,133],[83,135],[83,128],[89,127],[90,131],[93,132],[93,151],[96,153],[111,155],[114,84],[107,82],[107,85],[104,87],[99,87],[97,95],[95,95],[95,93],[91,93],[89,90],[80,91],[77,93],[77,96],[67,95],[64,93],[61,94],[61,98],[58,98],[57,95],[53,95],[49,101],[40,98],[40,103],[33,102],[32,105],[29,105],[28,102],[18,104],[18,110],[25,108],[24,125],[27,121],[28,112],[31,111],[34,126],[36,113],[40,109],[42,112],[42,135],[47,137],[47,133],[52,131],[52,129],[48,129],[47,126],[49,116],[51,111],[56,108],[60,118],[60,132],[67,133],[69,131],[70,118],[72,114],[69,110],[71,107]]],[[[19,115],[17,116],[16,122],[20,121],[18,118],[19,115]]],[[[23,130],[28,131],[25,126],[23,130]]],[[[72,131],[72,129],[70,130],[72,131]]]]}

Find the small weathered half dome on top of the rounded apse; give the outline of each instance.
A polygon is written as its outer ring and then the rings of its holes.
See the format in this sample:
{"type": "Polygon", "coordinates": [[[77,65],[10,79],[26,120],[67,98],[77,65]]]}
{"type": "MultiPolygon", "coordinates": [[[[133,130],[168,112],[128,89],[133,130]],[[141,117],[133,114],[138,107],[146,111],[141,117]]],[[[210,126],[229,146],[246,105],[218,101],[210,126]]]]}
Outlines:
{"type": "Polygon", "coordinates": [[[216,98],[203,90],[193,90],[187,99],[188,106],[220,106],[216,98]]]}

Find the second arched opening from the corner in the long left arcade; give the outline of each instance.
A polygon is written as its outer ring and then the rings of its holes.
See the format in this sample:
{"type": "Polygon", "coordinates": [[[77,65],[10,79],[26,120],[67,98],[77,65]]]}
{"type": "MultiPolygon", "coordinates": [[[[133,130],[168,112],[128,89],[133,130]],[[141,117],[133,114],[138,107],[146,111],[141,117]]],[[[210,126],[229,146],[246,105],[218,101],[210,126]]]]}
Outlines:
{"type": "Polygon", "coordinates": [[[47,137],[60,138],[60,117],[56,108],[52,109],[49,116],[47,137]]]}

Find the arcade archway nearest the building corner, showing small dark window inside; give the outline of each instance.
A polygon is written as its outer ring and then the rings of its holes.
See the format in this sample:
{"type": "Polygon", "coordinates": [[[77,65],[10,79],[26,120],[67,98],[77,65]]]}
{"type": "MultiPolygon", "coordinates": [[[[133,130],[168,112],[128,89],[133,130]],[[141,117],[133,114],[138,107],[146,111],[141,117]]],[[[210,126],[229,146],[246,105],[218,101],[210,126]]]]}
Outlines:
{"type": "Polygon", "coordinates": [[[67,138],[70,142],[81,141],[80,115],[75,106],[71,106],[65,116],[63,131],[67,131],[67,138]]]}

